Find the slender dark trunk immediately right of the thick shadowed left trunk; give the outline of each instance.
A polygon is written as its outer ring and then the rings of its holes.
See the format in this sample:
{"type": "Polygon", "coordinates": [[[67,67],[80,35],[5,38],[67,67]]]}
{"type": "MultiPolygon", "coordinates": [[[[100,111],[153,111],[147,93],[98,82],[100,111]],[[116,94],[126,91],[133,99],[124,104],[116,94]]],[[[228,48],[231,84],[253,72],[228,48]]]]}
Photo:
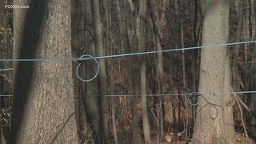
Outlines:
{"type": "MultiPolygon", "coordinates": [[[[86,17],[84,15],[86,14],[86,1],[85,0],[75,0],[71,1],[71,29],[72,29],[72,50],[74,50],[76,53],[80,54],[79,51],[83,46],[86,46],[86,30],[85,30],[85,23],[86,23],[86,17]]],[[[80,55],[79,55],[80,56],[80,55]]],[[[74,55],[73,57],[79,57],[78,55],[74,55]]],[[[86,65],[82,66],[82,78],[86,78],[86,71],[85,71],[86,65]]],[[[75,69],[75,66],[74,66],[75,69]]],[[[78,90],[75,89],[74,92],[75,95],[78,95],[78,97],[75,98],[74,105],[75,105],[75,115],[76,115],[76,122],[77,122],[77,134],[79,138],[80,143],[85,143],[86,135],[89,133],[86,133],[87,130],[87,118],[85,109],[83,106],[84,98],[83,96],[86,95],[86,82],[80,81],[78,78],[76,78],[76,75],[74,74],[74,83],[78,83],[78,90]]]]}

